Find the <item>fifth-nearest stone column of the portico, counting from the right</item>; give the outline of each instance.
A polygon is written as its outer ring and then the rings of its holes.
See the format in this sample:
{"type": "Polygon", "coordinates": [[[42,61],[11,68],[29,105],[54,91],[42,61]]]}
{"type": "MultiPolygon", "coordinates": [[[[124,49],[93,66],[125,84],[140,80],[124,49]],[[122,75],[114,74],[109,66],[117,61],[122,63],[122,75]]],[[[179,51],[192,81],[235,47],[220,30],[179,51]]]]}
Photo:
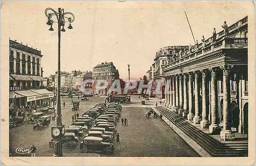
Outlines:
{"type": "Polygon", "coordinates": [[[193,77],[194,73],[189,73],[188,76],[188,115],[187,119],[192,121],[194,118],[193,114],[193,98],[194,98],[194,87],[193,87],[193,77]]]}

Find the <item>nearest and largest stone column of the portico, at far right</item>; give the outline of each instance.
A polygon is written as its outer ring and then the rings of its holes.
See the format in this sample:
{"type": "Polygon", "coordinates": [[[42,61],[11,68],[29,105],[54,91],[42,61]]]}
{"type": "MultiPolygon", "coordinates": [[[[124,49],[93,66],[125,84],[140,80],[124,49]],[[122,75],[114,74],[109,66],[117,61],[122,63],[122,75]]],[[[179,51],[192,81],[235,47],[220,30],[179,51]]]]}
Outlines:
{"type": "Polygon", "coordinates": [[[234,134],[231,132],[230,69],[230,66],[223,67],[223,130],[220,135],[224,141],[234,139],[234,134]]]}

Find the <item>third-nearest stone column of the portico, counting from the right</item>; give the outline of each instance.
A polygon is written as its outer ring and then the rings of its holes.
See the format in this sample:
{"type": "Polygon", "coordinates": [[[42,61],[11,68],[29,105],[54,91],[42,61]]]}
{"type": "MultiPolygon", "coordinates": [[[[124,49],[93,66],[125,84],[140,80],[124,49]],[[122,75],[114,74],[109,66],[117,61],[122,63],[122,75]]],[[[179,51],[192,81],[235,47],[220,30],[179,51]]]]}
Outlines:
{"type": "Polygon", "coordinates": [[[202,71],[202,121],[200,122],[201,128],[208,128],[209,127],[209,121],[208,121],[208,115],[209,110],[207,109],[208,104],[208,87],[207,87],[207,73],[208,70],[202,71]]]}

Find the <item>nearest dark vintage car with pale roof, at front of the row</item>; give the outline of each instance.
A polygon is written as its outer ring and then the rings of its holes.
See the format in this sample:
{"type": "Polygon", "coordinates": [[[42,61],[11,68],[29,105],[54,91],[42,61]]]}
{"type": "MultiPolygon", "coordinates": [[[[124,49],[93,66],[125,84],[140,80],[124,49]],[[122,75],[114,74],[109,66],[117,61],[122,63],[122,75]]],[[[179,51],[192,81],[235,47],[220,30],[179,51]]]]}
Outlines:
{"type": "Polygon", "coordinates": [[[106,154],[114,153],[115,146],[112,143],[105,143],[101,137],[87,136],[80,143],[81,153],[103,152],[106,154]]]}

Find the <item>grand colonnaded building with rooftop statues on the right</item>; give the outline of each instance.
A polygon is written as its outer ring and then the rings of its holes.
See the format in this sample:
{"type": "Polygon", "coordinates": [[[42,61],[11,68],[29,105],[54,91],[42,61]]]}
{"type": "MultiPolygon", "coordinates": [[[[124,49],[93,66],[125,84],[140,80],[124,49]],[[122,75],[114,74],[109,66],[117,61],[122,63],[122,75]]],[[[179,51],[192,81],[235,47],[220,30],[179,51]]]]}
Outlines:
{"type": "Polygon", "coordinates": [[[189,46],[164,66],[165,106],[223,140],[248,133],[248,18],[189,46]]]}

